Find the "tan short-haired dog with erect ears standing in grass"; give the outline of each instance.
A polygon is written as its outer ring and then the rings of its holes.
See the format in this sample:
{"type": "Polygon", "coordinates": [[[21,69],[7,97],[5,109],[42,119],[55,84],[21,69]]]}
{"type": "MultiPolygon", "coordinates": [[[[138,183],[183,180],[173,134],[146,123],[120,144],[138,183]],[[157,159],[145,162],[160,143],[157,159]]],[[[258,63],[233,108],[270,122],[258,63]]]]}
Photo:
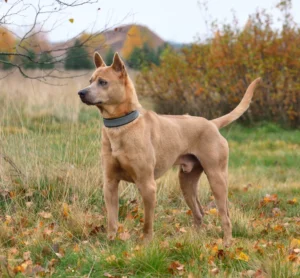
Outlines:
{"type": "Polygon", "coordinates": [[[118,184],[124,180],[135,183],[141,193],[145,209],[144,238],[152,239],[155,180],[173,165],[181,165],[180,187],[195,224],[200,225],[204,215],[197,197],[198,181],[204,171],[221,217],[224,243],[229,244],[232,238],[227,198],[229,149],[219,129],[247,110],[260,79],[251,83],[232,112],[209,121],[201,117],[157,115],[146,111],[139,103],[133,83],[117,53],[111,66],[106,66],[98,53],[94,55],[94,62],[97,69],[90,79],[90,86],[78,93],[82,102],[96,105],[104,119],[118,121],[132,111],[139,112],[136,119],[125,125],[103,126],[102,129],[108,237],[114,239],[117,233],[118,184]]]}

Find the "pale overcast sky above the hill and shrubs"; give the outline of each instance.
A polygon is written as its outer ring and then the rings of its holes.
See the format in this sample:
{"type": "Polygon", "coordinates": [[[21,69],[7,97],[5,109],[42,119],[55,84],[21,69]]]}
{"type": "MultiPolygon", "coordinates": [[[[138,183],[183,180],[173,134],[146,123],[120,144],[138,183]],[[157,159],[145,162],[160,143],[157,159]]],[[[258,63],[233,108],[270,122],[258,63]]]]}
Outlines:
{"type": "MultiPolygon", "coordinates": [[[[13,0],[9,1],[13,2],[13,0]]],[[[229,23],[232,22],[233,11],[240,26],[246,24],[249,14],[255,13],[257,8],[266,9],[275,16],[275,19],[279,17],[279,12],[275,8],[279,0],[207,0],[207,11],[200,8],[199,2],[203,1],[99,0],[93,5],[65,11],[59,18],[61,25],[50,32],[48,37],[51,41],[64,41],[83,30],[100,31],[119,24],[136,23],[148,26],[164,40],[190,43],[209,35],[210,30],[205,24],[207,19],[229,23]],[[69,22],[70,18],[74,19],[73,23],[69,22]]],[[[44,4],[53,0],[41,2],[44,4]]],[[[6,8],[5,4],[4,0],[0,0],[0,16],[1,9],[3,11],[6,8]]],[[[33,15],[33,11],[28,11],[26,16],[19,17],[17,19],[19,25],[25,26],[31,22],[33,15]]],[[[300,23],[300,0],[293,0],[293,15],[296,22],[300,23]]],[[[279,25],[275,24],[275,27],[277,26],[279,25]]],[[[19,30],[15,31],[21,32],[20,27],[18,28],[19,30]]]]}

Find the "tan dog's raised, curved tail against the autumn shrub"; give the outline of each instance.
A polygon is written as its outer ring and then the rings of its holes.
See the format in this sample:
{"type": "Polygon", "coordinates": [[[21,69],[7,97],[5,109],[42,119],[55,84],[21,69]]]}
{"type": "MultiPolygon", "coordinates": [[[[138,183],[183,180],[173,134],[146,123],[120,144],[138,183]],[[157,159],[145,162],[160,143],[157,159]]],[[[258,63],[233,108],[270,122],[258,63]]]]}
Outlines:
{"type": "Polygon", "coordinates": [[[244,97],[242,98],[241,102],[239,103],[239,105],[235,109],[233,109],[230,113],[228,113],[220,118],[211,120],[218,127],[218,129],[229,125],[230,123],[232,123],[233,121],[238,119],[240,116],[242,116],[247,111],[247,109],[249,108],[251,99],[253,97],[254,90],[260,81],[261,81],[261,78],[257,78],[249,85],[249,87],[248,87],[244,97]]]}

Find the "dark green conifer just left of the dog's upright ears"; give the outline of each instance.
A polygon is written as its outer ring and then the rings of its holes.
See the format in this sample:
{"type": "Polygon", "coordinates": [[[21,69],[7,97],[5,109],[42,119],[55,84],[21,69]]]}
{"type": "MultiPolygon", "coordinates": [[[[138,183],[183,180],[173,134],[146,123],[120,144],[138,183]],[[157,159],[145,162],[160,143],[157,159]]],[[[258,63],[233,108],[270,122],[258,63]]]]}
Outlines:
{"type": "Polygon", "coordinates": [[[65,69],[81,70],[92,68],[94,68],[94,64],[91,61],[88,52],[81,45],[80,41],[76,40],[74,46],[67,51],[65,69]]]}

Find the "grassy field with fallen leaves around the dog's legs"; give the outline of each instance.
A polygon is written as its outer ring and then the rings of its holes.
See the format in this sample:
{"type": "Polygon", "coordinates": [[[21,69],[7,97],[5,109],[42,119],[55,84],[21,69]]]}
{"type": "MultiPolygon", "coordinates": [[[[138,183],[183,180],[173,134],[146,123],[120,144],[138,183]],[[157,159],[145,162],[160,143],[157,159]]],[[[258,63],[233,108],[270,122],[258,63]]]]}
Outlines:
{"type": "Polygon", "coordinates": [[[222,245],[206,177],[199,197],[207,215],[197,231],[176,169],[157,182],[153,242],[142,244],[141,198],[127,183],[110,242],[102,123],[76,96],[88,78],[61,87],[15,78],[0,81],[1,277],[299,277],[299,130],[237,123],[222,130],[230,145],[231,247],[222,245]]]}

